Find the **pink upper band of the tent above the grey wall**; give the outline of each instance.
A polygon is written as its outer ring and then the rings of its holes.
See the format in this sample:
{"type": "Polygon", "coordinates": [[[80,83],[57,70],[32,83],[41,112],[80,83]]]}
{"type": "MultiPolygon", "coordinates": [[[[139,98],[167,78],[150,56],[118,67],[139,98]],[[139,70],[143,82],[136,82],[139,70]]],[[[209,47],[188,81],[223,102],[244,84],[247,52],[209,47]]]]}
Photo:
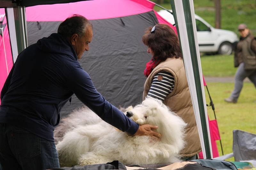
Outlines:
{"type": "Polygon", "coordinates": [[[63,21],[73,14],[80,14],[89,20],[107,19],[145,13],[151,11],[152,6],[154,3],[147,0],[81,1],[27,7],[26,17],[27,21],[63,21]],[[141,5],[144,3],[146,6],[141,5]]]}

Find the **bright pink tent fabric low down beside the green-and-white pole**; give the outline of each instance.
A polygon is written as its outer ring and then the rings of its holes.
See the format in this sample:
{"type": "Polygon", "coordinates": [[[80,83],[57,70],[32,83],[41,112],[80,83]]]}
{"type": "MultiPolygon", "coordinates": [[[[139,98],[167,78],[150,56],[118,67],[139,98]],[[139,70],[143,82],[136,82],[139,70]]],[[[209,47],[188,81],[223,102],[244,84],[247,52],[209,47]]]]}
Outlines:
{"type": "MultiPolygon", "coordinates": [[[[218,130],[218,133],[219,133],[219,129],[218,129],[218,125],[217,125],[217,122],[216,124],[214,123],[214,121],[216,120],[211,120],[209,119],[209,116],[208,116],[208,122],[209,122],[209,130],[210,130],[210,136],[211,136],[211,143],[212,143],[212,156],[213,158],[216,158],[219,156],[219,152],[218,152],[218,147],[217,147],[217,144],[216,144],[216,139],[214,139],[214,130],[218,130]],[[211,123],[211,121],[213,121],[213,123],[211,123]],[[217,127],[215,127],[217,126],[217,127]]],[[[202,152],[199,152],[199,158],[200,159],[203,159],[203,153],[202,152]]]]}

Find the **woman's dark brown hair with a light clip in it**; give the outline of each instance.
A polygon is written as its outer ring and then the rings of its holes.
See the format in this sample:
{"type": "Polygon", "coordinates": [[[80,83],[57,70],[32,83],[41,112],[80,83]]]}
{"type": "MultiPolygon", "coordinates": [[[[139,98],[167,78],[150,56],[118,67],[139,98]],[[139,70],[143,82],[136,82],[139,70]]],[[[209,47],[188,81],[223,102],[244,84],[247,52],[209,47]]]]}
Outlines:
{"type": "Polygon", "coordinates": [[[155,60],[182,58],[177,35],[169,25],[157,24],[155,30],[148,27],[142,37],[143,43],[153,51],[155,60]]]}

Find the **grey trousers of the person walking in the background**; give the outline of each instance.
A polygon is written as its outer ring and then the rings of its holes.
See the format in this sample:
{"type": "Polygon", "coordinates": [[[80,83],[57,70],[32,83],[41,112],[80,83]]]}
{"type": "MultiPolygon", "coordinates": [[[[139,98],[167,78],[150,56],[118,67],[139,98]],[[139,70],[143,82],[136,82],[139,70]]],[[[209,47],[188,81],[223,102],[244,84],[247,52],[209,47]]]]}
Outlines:
{"type": "Polygon", "coordinates": [[[243,81],[248,77],[256,88],[256,69],[255,70],[244,70],[244,63],[241,63],[236,70],[235,75],[235,88],[232,91],[230,98],[237,100],[240,92],[243,88],[243,81]]]}

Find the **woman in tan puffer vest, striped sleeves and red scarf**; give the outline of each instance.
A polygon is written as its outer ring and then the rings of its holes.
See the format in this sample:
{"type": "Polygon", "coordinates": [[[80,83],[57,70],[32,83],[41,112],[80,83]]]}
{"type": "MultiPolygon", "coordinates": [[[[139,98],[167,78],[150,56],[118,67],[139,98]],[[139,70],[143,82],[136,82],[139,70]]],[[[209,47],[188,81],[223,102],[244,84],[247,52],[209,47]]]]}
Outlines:
{"type": "Polygon", "coordinates": [[[170,26],[157,24],[146,29],[142,41],[152,55],[144,70],[143,100],[148,96],[162,100],[188,124],[187,144],[180,156],[183,160],[196,159],[201,145],[178,37],[170,26]]]}

